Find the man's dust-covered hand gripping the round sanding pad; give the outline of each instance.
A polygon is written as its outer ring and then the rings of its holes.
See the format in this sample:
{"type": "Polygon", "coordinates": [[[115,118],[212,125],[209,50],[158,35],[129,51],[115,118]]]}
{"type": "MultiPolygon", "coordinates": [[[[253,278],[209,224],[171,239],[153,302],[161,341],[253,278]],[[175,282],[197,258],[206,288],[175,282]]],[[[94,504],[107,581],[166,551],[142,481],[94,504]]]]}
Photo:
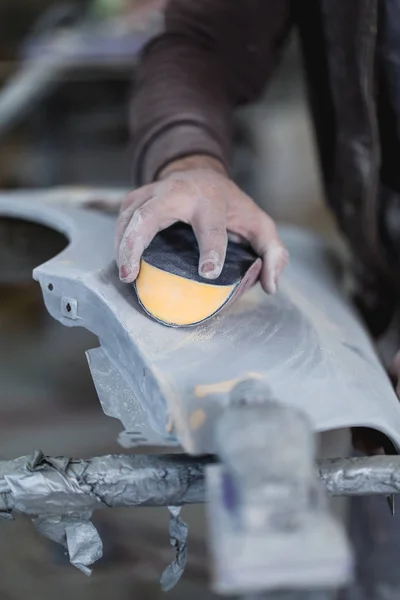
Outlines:
{"type": "Polygon", "coordinates": [[[274,222],[228,178],[217,160],[201,156],[171,163],[158,181],[124,200],[116,234],[122,281],[136,279],[145,248],[159,231],[177,221],[193,227],[202,277],[219,277],[229,233],[247,241],[262,258],[261,285],[269,294],[276,291],[288,253],[274,222]]]}

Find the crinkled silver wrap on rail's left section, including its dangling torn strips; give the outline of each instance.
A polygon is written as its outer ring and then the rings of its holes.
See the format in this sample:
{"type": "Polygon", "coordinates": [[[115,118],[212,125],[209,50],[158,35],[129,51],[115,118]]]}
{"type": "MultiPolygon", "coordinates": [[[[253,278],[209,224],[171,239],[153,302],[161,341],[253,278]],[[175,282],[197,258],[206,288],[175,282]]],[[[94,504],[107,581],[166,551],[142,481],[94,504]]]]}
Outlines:
{"type": "Polygon", "coordinates": [[[93,510],[168,506],[176,557],[162,576],[162,586],[172,589],[187,562],[187,526],[171,500],[180,505],[204,499],[206,462],[146,455],[78,461],[36,451],[30,458],[0,462],[0,518],[12,519],[12,511],[30,515],[37,530],[64,546],[71,563],[90,575],[90,566],[103,554],[90,521],[93,510]]]}

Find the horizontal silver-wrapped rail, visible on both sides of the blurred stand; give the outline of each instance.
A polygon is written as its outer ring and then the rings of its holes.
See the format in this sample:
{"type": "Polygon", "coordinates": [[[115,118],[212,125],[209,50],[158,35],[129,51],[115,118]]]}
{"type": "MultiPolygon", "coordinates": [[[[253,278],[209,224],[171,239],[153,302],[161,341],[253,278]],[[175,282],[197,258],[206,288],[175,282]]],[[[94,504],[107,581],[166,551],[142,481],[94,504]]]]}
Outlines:
{"type": "MultiPolygon", "coordinates": [[[[118,506],[182,506],[205,501],[210,458],[122,455],[88,460],[33,457],[0,461],[0,516],[68,514],[118,506]]],[[[317,462],[331,496],[400,492],[400,456],[317,462]]]]}

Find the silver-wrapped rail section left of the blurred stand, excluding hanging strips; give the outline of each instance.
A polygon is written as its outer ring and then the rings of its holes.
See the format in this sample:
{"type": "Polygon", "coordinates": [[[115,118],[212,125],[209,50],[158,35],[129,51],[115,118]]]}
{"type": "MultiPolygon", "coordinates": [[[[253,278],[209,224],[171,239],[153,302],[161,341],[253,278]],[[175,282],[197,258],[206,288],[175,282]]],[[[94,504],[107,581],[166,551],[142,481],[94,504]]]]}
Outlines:
{"type": "Polygon", "coordinates": [[[207,460],[181,455],[32,458],[0,462],[0,512],[68,514],[111,506],[204,501],[207,460]]]}

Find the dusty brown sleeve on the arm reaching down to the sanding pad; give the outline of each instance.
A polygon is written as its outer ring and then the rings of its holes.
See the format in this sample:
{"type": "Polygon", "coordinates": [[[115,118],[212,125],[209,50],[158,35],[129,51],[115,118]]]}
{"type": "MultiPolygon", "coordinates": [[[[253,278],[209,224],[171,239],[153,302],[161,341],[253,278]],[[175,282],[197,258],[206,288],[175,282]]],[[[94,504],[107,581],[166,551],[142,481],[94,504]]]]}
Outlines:
{"type": "Polygon", "coordinates": [[[134,176],[193,154],[229,168],[236,106],[256,99],[290,27],[290,0],[169,0],[145,49],[131,109],[134,176]]]}

